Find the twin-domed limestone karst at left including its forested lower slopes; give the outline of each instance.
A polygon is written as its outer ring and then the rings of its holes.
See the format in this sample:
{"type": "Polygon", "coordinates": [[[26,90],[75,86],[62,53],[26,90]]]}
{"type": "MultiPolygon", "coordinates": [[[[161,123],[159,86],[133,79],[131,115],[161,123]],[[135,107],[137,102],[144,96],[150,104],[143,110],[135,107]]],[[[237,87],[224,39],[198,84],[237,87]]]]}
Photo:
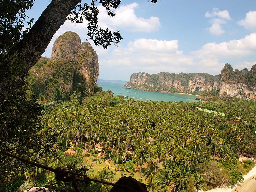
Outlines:
{"type": "Polygon", "coordinates": [[[51,57],[41,57],[29,70],[32,94],[44,101],[81,102],[84,96],[99,89],[97,53],[90,43],[80,41],[79,35],[71,31],[55,40],[51,57]]]}

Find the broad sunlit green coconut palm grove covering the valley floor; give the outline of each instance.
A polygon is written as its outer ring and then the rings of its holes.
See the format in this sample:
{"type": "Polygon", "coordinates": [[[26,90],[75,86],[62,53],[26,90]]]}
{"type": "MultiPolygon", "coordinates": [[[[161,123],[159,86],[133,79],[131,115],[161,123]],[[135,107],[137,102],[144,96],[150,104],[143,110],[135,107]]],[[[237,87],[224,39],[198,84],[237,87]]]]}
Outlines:
{"type": "MultiPolygon", "coordinates": [[[[56,142],[40,163],[71,166],[72,170],[82,165],[88,168],[88,176],[110,182],[132,176],[147,183],[148,190],[154,192],[233,185],[242,181],[242,175],[254,166],[246,158],[243,163],[238,161],[239,151],[256,154],[254,102],[167,103],[124,99],[103,91],[87,97],[82,105],[78,100],[46,104],[42,126],[51,128],[56,142]],[[102,146],[104,151],[99,152],[96,146],[102,146]],[[74,154],[67,156],[64,152],[71,149],[74,154]]],[[[31,159],[36,160],[36,156],[31,159]]],[[[55,182],[52,173],[33,167],[14,174],[18,173],[22,177],[13,177],[8,187],[17,186],[18,178],[24,183],[26,173],[27,187],[55,182]]],[[[64,183],[53,186],[61,191],[67,187],[64,183]]],[[[98,187],[92,183],[84,190],[94,192],[98,187]]]]}

